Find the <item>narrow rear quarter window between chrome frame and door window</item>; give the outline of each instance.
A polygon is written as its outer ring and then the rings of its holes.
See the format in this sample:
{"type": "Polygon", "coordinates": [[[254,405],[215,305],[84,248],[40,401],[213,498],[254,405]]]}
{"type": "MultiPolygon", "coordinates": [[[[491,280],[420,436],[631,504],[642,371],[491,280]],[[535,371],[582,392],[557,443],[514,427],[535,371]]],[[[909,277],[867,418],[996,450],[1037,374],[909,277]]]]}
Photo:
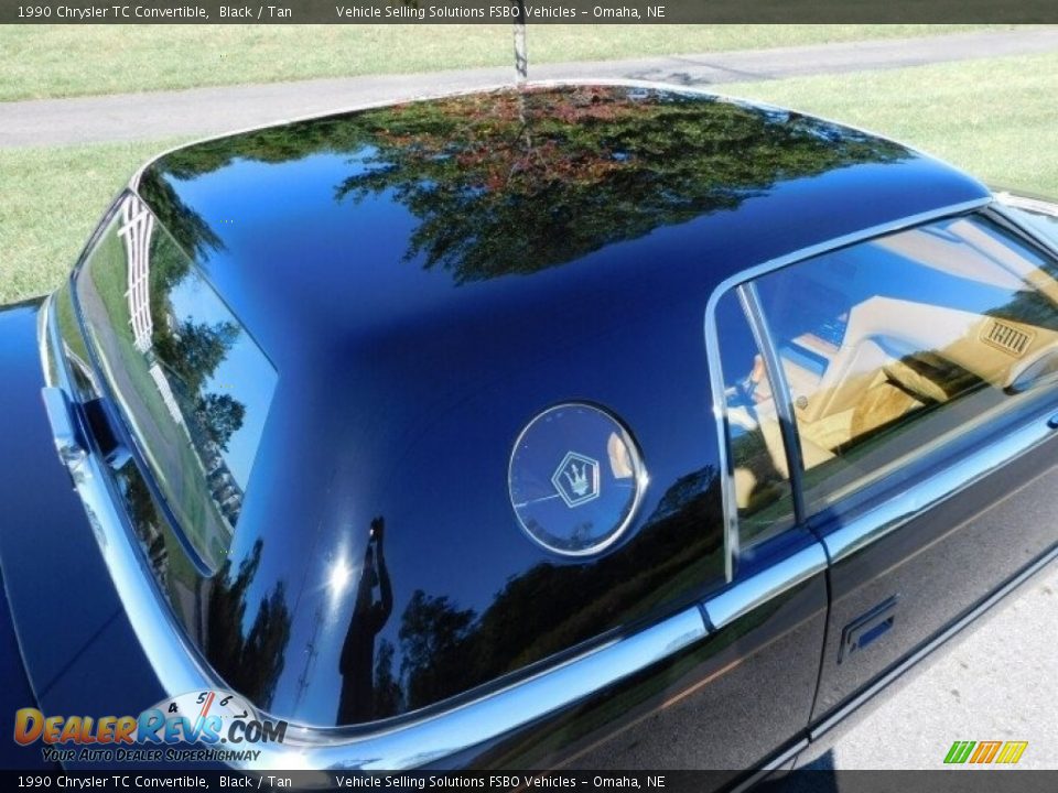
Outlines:
{"type": "Polygon", "coordinates": [[[771,382],[734,291],[716,306],[716,328],[738,541],[748,547],[792,525],[789,467],[771,382]]]}

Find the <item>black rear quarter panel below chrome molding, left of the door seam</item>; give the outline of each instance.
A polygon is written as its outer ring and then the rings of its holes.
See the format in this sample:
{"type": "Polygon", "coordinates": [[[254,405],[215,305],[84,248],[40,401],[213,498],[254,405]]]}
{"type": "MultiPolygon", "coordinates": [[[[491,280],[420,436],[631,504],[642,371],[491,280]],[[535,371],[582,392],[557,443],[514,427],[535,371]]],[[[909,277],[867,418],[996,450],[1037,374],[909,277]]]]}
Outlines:
{"type": "Polygon", "coordinates": [[[819,574],[693,648],[453,767],[709,769],[734,782],[805,735],[827,618],[819,574]]]}

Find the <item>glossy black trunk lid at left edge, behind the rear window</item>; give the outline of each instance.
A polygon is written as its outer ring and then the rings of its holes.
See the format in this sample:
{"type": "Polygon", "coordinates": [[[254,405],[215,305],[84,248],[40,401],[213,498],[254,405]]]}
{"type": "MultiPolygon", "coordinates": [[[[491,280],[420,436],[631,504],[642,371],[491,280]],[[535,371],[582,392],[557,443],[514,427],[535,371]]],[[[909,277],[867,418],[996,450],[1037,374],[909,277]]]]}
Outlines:
{"type": "MultiPolygon", "coordinates": [[[[40,301],[0,309],[0,566],[21,650],[4,659],[12,676],[4,676],[0,708],[9,727],[18,708],[134,715],[164,695],[55,455],[41,403],[39,312],[40,301]],[[32,696],[18,685],[14,664],[23,666],[32,696]]],[[[2,743],[7,768],[41,761],[40,745],[21,751],[10,732],[2,743]]]]}

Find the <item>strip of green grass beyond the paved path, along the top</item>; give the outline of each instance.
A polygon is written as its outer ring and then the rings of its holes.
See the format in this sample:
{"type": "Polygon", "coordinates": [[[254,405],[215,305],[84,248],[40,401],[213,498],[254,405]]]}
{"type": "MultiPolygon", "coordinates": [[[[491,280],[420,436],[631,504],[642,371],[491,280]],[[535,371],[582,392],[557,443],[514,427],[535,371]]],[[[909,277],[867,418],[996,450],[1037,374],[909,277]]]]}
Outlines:
{"type": "MultiPolygon", "coordinates": [[[[1013,25],[530,25],[531,63],[1013,25]]],[[[0,101],[436,72],[512,62],[498,25],[0,25],[0,101]]]]}

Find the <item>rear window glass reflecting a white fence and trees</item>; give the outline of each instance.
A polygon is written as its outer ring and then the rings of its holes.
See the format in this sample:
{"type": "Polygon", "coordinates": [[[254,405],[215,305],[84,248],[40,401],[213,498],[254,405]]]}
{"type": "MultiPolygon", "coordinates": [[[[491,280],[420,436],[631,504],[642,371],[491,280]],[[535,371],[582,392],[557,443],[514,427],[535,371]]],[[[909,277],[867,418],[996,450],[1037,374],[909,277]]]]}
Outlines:
{"type": "Polygon", "coordinates": [[[274,368],[136,196],[121,200],[75,291],[104,376],[168,507],[216,569],[242,508],[274,368]]]}

